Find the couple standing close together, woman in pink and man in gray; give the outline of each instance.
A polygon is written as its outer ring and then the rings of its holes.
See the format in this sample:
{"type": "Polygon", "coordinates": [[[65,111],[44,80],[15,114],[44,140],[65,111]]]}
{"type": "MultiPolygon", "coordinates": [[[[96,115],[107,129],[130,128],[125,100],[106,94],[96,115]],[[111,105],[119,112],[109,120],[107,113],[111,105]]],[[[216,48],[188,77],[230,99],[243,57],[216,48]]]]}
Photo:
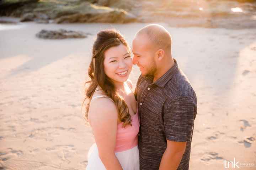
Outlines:
{"type": "Polygon", "coordinates": [[[150,24],[132,47],[116,30],[94,42],[85,117],[96,143],[86,170],[188,170],[197,98],[172,58],[170,33],[150,24]],[[141,72],[134,91],[133,64],[141,72]]]}

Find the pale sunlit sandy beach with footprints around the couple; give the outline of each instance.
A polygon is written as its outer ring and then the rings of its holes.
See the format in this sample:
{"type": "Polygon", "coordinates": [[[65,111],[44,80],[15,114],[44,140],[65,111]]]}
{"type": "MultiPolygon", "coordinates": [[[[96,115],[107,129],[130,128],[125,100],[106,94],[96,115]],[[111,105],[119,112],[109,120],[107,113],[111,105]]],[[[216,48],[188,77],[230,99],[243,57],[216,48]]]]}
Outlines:
{"type": "MultiPolygon", "coordinates": [[[[94,143],[82,117],[84,82],[96,33],[116,28],[129,45],[149,23],[0,24],[0,169],[82,170],[94,143]],[[44,40],[41,29],[91,33],[44,40]]],[[[221,170],[224,160],[256,169],[256,30],[176,28],[172,55],[198,99],[191,170],[221,170]]],[[[134,87],[140,71],[133,66],[134,87]]]]}

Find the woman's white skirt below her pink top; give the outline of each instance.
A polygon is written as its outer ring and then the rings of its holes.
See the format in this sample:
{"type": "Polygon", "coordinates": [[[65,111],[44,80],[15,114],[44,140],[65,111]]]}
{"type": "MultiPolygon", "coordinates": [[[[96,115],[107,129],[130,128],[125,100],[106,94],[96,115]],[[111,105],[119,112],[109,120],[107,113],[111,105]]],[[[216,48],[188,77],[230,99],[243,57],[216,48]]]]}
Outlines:
{"type": "MultiPolygon", "coordinates": [[[[139,170],[139,147],[138,145],[122,152],[115,152],[123,170],[139,170]]],[[[98,156],[98,148],[94,143],[87,154],[88,165],[86,170],[106,170],[98,156]]]]}

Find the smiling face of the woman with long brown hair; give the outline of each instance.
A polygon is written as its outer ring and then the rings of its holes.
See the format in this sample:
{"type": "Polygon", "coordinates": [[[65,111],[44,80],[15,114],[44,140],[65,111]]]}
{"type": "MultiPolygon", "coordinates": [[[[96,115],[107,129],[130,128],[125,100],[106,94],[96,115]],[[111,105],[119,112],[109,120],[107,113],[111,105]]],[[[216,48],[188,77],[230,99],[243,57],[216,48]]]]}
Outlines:
{"type": "Polygon", "coordinates": [[[106,50],[103,61],[104,71],[114,83],[123,83],[132,70],[132,57],[123,44],[106,50]]]}

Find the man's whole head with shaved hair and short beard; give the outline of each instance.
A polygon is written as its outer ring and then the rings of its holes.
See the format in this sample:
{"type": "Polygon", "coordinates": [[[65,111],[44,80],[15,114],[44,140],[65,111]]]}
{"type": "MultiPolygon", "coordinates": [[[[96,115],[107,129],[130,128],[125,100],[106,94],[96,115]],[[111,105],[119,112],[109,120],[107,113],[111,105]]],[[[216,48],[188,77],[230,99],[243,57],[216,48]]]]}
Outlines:
{"type": "MultiPolygon", "coordinates": [[[[171,55],[170,33],[158,24],[140,29],[133,39],[133,64],[140,68],[142,76],[159,78],[174,63],[171,55]]],[[[155,79],[155,80],[156,80],[155,79]]]]}

